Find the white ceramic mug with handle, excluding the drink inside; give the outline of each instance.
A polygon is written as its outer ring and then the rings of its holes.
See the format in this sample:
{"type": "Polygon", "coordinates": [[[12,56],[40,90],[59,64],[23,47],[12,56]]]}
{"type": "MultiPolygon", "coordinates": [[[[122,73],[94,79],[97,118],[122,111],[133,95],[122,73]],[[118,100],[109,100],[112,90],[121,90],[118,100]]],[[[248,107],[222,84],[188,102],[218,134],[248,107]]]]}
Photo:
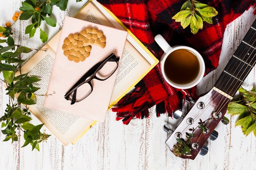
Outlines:
{"type": "Polygon", "coordinates": [[[164,79],[167,81],[167,83],[169,83],[171,86],[176,87],[178,89],[189,89],[189,88],[197,85],[202,80],[202,78],[204,76],[205,65],[204,65],[204,60],[203,60],[201,54],[197,50],[195,50],[191,47],[188,47],[188,46],[173,46],[173,47],[171,47],[166,42],[164,37],[162,37],[162,35],[155,36],[155,41],[162,48],[162,50],[164,50],[164,54],[160,60],[160,65],[161,65],[162,74],[164,76],[164,79]],[[179,49],[186,49],[186,50],[189,50],[190,52],[192,52],[198,58],[199,65],[200,65],[200,71],[199,71],[198,76],[193,81],[191,81],[187,84],[177,84],[177,83],[172,82],[170,79],[167,78],[167,76],[164,72],[164,62],[165,62],[166,58],[168,57],[169,54],[171,54],[171,52],[173,52],[175,50],[179,50],[179,49]]]}

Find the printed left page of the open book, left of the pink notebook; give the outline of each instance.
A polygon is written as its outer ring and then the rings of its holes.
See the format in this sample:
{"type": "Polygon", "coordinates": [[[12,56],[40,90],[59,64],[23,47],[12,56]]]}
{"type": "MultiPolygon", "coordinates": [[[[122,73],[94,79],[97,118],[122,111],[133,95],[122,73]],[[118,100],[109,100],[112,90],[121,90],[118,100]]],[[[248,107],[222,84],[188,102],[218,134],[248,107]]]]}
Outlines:
{"type": "MultiPolygon", "coordinates": [[[[49,44],[53,43],[57,38],[58,37],[54,37],[49,44]]],[[[41,81],[34,83],[36,87],[40,87],[36,94],[46,94],[56,54],[48,44],[42,49],[47,49],[47,52],[37,52],[34,57],[21,68],[22,74],[28,72],[29,76],[36,76],[41,79],[41,81]]],[[[45,127],[65,146],[73,142],[74,139],[94,122],[94,120],[48,109],[43,106],[45,96],[37,95],[36,98],[36,105],[28,105],[29,110],[38,118],[38,120],[40,120],[40,122],[44,123],[45,127]]]]}

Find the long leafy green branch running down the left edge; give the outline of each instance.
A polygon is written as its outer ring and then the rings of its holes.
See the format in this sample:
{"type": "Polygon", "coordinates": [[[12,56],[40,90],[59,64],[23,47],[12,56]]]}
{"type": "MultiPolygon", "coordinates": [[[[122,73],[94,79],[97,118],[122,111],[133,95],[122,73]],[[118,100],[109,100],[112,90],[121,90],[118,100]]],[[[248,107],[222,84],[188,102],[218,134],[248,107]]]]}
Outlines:
{"type": "Polygon", "coordinates": [[[39,143],[46,141],[50,135],[40,131],[43,124],[35,126],[29,123],[32,118],[27,105],[36,104],[35,92],[40,88],[35,87],[34,83],[40,79],[20,72],[20,65],[25,62],[20,58],[20,54],[29,53],[32,49],[14,44],[10,27],[0,26],[0,32],[7,38],[0,39],[0,44],[7,44],[5,47],[0,45],[0,73],[4,77],[0,81],[5,83],[6,94],[9,95],[9,104],[4,116],[0,117],[2,134],[6,135],[3,141],[18,141],[18,131],[23,131],[25,143],[22,147],[31,144],[32,150],[36,148],[39,151],[39,143]],[[16,76],[17,72],[20,75],[16,76]],[[14,102],[15,96],[18,96],[17,102],[14,102]],[[20,109],[21,104],[26,108],[20,109]]]}

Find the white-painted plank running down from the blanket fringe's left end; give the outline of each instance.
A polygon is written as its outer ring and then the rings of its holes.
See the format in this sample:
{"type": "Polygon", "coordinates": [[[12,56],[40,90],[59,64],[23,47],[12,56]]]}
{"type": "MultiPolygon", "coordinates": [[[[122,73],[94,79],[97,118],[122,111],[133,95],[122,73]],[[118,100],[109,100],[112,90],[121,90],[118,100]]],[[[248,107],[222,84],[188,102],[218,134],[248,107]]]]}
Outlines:
{"type": "Polygon", "coordinates": [[[110,112],[105,120],[104,169],[144,169],[146,120],[124,125],[115,118],[110,112]]]}

